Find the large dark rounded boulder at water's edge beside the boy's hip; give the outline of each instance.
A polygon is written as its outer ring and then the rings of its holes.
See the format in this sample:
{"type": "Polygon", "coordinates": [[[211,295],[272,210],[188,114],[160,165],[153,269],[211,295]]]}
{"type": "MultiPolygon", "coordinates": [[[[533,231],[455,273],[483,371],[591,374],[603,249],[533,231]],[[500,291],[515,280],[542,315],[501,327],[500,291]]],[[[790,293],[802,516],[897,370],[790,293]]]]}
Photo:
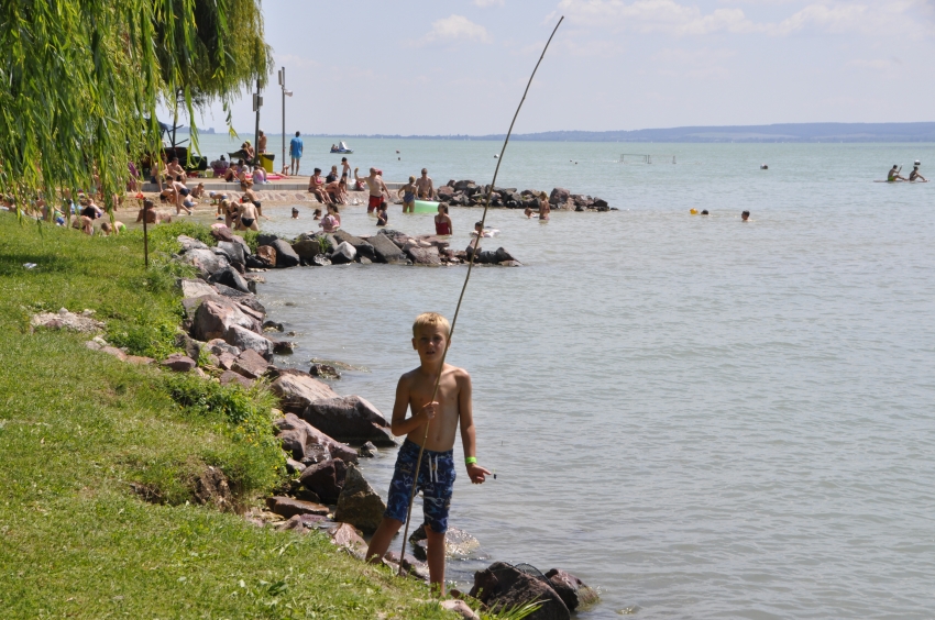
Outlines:
{"type": "Polygon", "coordinates": [[[300,417],[338,441],[350,443],[370,441],[380,447],[396,445],[386,418],[369,400],[360,396],[317,399],[309,402],[300,417]]]}

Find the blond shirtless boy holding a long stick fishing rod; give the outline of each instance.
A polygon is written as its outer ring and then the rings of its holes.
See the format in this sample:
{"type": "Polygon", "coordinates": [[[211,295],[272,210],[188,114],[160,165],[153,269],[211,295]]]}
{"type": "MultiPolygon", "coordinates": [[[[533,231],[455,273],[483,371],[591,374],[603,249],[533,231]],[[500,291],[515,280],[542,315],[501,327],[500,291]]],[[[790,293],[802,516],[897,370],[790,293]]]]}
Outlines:
{"type": "Polygon", "coordinates": [[[425,441],[422,465],[417,488],[422,490],[426,535],[428,536],[429,580],[433,589],[444,594],[444,532],[454,485],[454,433],[461,429],[464,464],[475,485],[483,484],[491,472],[477,465],[476,438],[471,405],[471,375],[450,364],[441,367],[441,358],[450,344],[451,325],[441,314],[426,312],[413,325],[413,348],[419,353],[419,367],[399,377],[393,406],[392,431],[407,435],[396,457],[389,483],[389,497],[383,521],[376,529],[366,557],[377,563],[386,553],[393,536],[406,520],[413,492],[419,446],[425,441]],[[438,400],[432,400],[436,378],[441,370],[438,400]],[[406,418],[406,411],[413,414],[406,418]]]}

